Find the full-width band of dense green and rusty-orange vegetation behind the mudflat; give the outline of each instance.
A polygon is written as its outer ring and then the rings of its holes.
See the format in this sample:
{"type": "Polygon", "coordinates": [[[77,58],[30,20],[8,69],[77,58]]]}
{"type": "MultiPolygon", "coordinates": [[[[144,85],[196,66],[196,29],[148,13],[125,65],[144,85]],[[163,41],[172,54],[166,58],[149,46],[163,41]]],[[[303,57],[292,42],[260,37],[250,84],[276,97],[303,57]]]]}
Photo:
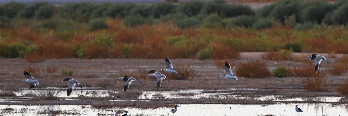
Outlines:
{"type": "Polygon", "coordinates": [[[243,51],[348,53],[348,0],[279,0],[256,11],[223,0],[153,4],[11,1],[0,6],[5,58],[221,59],[243,51]],[[232,55],[214,54],[230,50],[232,55]]]}

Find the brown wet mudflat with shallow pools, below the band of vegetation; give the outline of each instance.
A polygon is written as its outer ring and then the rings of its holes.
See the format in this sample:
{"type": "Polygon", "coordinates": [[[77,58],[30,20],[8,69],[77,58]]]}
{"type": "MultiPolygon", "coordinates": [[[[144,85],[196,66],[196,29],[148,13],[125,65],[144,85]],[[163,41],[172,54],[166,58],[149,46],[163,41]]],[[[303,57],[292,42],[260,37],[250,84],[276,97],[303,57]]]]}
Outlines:
{"type": "MultiPolygon", "coordinates": [[[[297,54],[302,55],[302,54],[297,54]]],[[[243,53],[236,62],[259,59],[258,52],[243,53]]],[[[338,55],[338,58],[340,56],[338,55]]],[[[328,58],[334,62],[335,58],[328,58]]],[[[336,92],[347,74],[329,75],[331,88],[327,91],[306,91],[301,86],[302,77],[285,78],[243,78],[235,80],[216,78],[224,75],[224,69],[215,66],[214,60],[172,59],[173,64],[190,64],[196,70],[196,77],[186,80],[163,81],[157,90],[156,80],[147,76],[151,69],[165,68],[164,59],[47,59],[44,62],[28,63],[21,58],[0,59],[0,114],[44,115],[47,107],[60,110],[58,115],[123,115],[129,111],[132,116],[172,115],[174,105],[180,105],[176,116],[276,116],[298,115],[295,105],[304,111],[303,116],[347,115],[348,98],[336,92]],[[135,65],[136,64],[136,65],[135,65]],[[57,70],[48,73],[47,66],[57,70]],[[23,70],[34,67],[32,75],[40,82],[42,90],[29,88],[22,82],[23,70]],[[67,83],[60,83],[65,77],[62,69],[74,74],[69,76],[80,81],[71,96],[66,97],[67,83]],[[132,83],[127,92],[119,76],[133,74],[142,84],[132,83]],[[11,93],[13,94],[5,94],[11,93]],[[42,97],[47,93],[54,97],[42,97]],[[116,99],[113,94],[121,96],[116,99]],[[42,113],[41,113],[42,112],[42,113]],[[65,114],[64,114],[65,113],[65,114]]],[[[300,61],[267,61],[268,67],[277,65],[301,66],[300,61]]],[[[232,64],[231,64],[232,66],[232,64]]],[[[234,67],[234,66],[232,66],[234,67]]],[[[321,68],[330,68],[321,65],[321,68]]]]}

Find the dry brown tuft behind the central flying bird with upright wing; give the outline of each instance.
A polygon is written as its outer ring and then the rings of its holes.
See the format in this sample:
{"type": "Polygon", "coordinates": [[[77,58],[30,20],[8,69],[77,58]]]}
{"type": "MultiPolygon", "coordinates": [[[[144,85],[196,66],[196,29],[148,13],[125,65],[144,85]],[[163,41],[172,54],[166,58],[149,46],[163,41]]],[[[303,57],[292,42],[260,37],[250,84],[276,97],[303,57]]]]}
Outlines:
{"type": "Polygon", "coordinates": [[[166,75],[167,79],[191,79],[196,76],[196,70],[191,67],[190,64],[180,64],[177,63],[175,66],[175,70],[177,73],[179,73],[179,76],[182,78],[177,77],[174,73],[169,73],[165,71],[161,71],[164,75],[166,75]]]}

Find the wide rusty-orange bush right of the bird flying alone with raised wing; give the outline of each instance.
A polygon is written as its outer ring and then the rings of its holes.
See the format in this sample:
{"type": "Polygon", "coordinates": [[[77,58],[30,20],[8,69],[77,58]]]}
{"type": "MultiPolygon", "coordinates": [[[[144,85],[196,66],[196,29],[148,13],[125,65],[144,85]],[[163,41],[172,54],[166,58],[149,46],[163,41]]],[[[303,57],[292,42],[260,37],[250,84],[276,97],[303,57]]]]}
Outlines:
{"type": "Polygon", "coordinates": [[[267,62],[258,60],[239,62],[235,72],[238,77],[246,78],[266,78],[271,76],[271,71],[267,67],[267,62]]]}

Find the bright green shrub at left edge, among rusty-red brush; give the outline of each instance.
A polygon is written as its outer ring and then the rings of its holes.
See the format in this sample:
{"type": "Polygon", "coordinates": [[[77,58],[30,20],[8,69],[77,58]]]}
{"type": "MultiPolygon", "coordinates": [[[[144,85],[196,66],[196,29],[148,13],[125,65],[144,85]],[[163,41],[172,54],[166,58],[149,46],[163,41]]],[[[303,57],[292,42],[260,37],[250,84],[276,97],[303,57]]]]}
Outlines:
{"type": "Polygon", "coordinates": [[[19,52],[26,50],[26,47],[20,43],[10,43],[2,47],[2,53],[0,55],[5,58],[17,58],[19,52]]]}

